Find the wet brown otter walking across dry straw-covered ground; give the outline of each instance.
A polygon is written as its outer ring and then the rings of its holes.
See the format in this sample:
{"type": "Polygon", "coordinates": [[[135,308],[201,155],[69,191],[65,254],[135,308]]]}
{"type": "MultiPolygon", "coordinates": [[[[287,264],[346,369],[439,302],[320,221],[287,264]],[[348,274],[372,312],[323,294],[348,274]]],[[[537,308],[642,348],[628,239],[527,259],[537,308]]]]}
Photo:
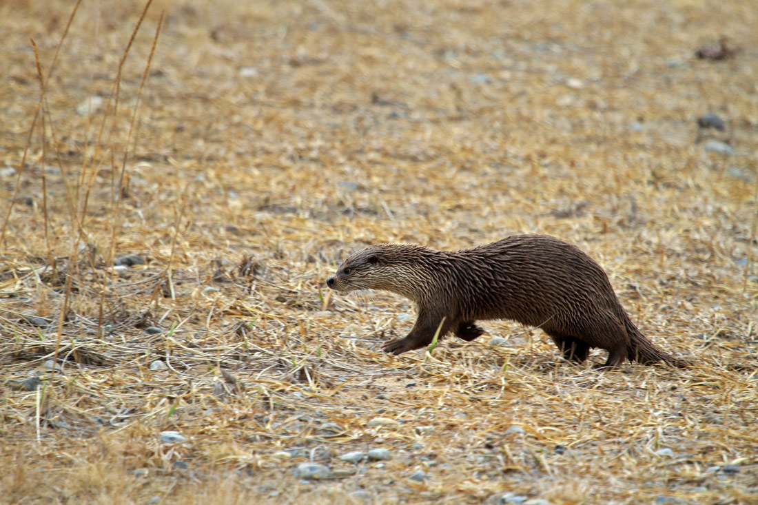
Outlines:
{"type": "Polygon", "coordinates": [[[569,361],[584,362],[599,347],[608,351],[601,369],[625,359],[688,364],[637,329],[594,259],[547,235],[515,235],[459,251],[377,244],[349,256],[327,286],[386,290],[415,302],[410,333],[382,346],[395,355],[428,346],[438,329],[440,338],[452,332],[471,341],[484,333],[478,320],[510,319],[542,328],[569,361]]]}

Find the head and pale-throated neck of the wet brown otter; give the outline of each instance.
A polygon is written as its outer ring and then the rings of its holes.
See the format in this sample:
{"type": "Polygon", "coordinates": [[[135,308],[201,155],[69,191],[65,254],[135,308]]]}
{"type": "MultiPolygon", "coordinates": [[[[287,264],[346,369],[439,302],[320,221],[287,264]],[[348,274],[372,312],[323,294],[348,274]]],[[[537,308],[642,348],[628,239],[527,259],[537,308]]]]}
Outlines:
{"type": "Polygon", "coordinates": [[[426,284],[417,264],[421,252],[427,250],[389,243],[368,246],[349,256],[327,279],[327,286],[337,291],[386,290],[416,300],[426,284]]]}

